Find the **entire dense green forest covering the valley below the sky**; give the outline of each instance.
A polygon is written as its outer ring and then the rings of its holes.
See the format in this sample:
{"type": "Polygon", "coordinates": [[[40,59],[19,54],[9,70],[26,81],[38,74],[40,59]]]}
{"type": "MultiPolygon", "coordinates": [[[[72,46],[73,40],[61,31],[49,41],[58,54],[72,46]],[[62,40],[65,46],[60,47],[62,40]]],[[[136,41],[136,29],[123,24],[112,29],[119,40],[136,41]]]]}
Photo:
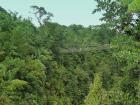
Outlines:
{"type": "Polygon", "coordinates": [[[140,105],[140,0],[95,1],[89,27],[0,7],[0,105],[140,105]]]}

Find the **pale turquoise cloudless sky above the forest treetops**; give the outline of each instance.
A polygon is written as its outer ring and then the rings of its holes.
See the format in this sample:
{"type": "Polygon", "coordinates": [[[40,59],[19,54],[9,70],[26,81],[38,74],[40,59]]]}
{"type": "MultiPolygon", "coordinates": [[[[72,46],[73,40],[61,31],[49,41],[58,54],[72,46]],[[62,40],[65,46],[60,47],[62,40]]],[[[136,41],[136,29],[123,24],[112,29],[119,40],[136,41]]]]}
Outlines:
{"type": "Polygon", "coordinates": [[[18,12],[23,17],[33,17],[30,6],[44,7],[54,14],[52,22],[62,25],[81,24],[99,25],[101,13],[91,14],[96,8],[94,0],[0,0],[0,6],[6,10],[18,12]]]}

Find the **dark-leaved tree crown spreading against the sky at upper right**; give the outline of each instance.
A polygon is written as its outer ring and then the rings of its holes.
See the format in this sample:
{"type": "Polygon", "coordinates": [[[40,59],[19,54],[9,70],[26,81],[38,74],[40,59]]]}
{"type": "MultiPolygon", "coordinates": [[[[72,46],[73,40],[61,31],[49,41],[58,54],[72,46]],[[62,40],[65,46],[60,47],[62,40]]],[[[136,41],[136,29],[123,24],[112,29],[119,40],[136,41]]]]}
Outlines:
{"type": "Polygon", "coordinates": [[[127,13],[128,6],[122,5],[120,0],[95,1],[97,8],[92,13],[103,11],[103,17],[100,20],[105,21],[111,28],[124,32],[124,29],[132,24],[132,14],[127,13]]]}

